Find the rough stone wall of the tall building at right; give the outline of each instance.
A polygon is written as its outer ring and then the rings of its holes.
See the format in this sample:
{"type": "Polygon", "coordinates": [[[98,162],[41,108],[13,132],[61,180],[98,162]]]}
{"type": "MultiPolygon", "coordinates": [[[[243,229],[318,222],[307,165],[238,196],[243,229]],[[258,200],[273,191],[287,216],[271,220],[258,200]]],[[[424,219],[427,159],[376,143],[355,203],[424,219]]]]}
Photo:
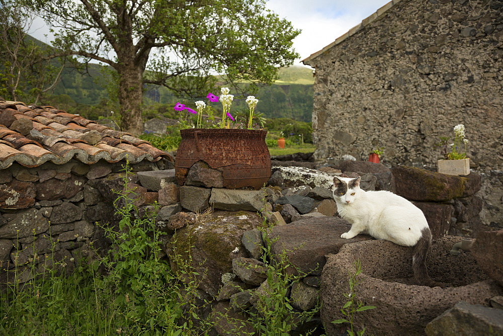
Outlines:
{"type": "Polygon", "coordinates": [[[434,169],[464,124],[483,220],[503,223],[503,3],[393,0],[303,62],[316,69],[317,161],[384,147],[383,163],[434,169]]]}

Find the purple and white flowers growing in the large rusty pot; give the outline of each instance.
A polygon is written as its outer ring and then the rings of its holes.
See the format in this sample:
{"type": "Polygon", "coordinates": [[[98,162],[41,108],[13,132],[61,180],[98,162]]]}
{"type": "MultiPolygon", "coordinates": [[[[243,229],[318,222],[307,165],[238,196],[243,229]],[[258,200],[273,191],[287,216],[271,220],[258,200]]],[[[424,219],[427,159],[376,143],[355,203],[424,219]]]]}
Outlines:
{"type": "Polygon", "coordinates": [[[209,105],[207,106],[203,101],[197,101],[195,103],[196,110],[186,107],[181,103],[177,103],[175,105],[175,111],[182,112],[187,110],[189,112],[187,115],[180,114],[178,123],[182,126],[182,128],[264,128],[266,119],[263,117],[262,113],[255,111],[259,100],[255,98],[255,96],[248,96],[246,98],[248,110],[237,111],[233,117],[230,113],[230,108],[232,101],[234,100],[234,95],[230,95],[229,91],[229,88],[221,88],[220,97],[215,96],[212,93],[209,93],[206,96],[210,103],[220,101],[222,104],[222,118],[220,122],[215,122],[213,109],[209,105]],[[206,117],[203,118],[203,115],[206,117]],[[257,121],[256,124],[253,123],[254,120],[257,121]],[[233,127],[231,127],[231,124],[233,127]]]}

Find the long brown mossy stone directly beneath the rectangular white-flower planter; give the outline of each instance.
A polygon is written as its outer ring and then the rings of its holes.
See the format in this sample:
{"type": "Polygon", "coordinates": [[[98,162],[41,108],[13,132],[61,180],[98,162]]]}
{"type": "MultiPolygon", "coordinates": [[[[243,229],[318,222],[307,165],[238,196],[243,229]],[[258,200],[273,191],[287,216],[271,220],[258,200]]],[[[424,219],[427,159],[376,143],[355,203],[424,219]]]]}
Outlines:
{"type": "Polygon", "coordinates": [[[445,202],[480,190],[480,176],[476,174],[459,177],[404,165],[393,167],[391,172],[396,194],[407,200],[445,202]]]}

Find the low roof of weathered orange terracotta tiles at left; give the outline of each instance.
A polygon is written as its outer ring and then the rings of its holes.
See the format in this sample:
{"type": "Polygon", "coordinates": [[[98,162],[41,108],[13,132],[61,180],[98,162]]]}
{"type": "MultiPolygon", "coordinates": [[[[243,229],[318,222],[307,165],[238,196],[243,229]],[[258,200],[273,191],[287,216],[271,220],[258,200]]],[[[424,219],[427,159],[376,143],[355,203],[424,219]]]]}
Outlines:
{"type": "Polygon", "coordinates": [[[100,159],[117,162],[126,158],[131,163],[161,158],[173,161],[167,153],[130,133],[113,130],[52,106],[27,106],[22,102],[0,100],[0,113],[33,123],[28,136],[0,125],[0,169],[13,162],[36,167],[47,161],[63,164],[72,158],[88,164],[100,159]]]}

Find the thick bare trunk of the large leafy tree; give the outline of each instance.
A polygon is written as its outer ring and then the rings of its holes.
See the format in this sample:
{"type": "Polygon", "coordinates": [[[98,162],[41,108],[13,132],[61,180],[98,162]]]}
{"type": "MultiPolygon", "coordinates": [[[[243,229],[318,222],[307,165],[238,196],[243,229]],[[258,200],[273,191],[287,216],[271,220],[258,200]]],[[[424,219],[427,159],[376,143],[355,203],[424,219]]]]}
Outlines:
{"type": "Polygon", "coordinates": [[[134,135],[143,133],[141,103],[143,70],[134,66],[119,67],[119,103],[121,105],[121,128],[134,135]]]}

